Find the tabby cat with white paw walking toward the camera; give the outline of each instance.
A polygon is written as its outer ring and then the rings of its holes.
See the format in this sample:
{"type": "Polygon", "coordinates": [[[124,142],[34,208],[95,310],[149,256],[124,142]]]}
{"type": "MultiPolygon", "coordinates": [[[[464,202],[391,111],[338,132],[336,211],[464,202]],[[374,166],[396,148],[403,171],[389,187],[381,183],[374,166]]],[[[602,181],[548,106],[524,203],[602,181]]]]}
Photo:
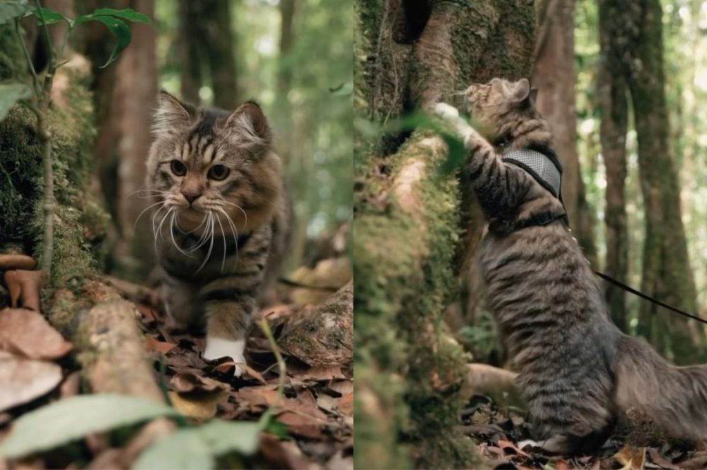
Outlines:
{"type": "Polygon", "coordinates": [[[234,112],[161,93],[146,182],[171,327],[206,319],[204,358],[245,364],[252,313],[271,296],[288,205],[280,158],[255,102],[234,112]]]}

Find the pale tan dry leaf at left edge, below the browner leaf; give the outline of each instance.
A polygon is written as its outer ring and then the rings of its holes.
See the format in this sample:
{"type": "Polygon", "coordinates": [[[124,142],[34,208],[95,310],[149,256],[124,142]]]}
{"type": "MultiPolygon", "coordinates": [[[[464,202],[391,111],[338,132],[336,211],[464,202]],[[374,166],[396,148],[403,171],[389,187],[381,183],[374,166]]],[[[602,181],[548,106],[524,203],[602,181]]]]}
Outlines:
{"type": "Polygon", "coordinates": [[[57,364],[0,351],[0,411],[31,402],[61,381],[62,368],[57,364]]]}

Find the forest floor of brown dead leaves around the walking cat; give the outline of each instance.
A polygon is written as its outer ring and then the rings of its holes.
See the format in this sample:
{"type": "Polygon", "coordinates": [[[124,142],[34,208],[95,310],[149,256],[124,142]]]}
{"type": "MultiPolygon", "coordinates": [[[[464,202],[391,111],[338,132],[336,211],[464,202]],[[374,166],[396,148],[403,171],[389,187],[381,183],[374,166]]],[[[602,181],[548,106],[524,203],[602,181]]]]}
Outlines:
{"type": "MultiPolygon", "coordinates": [[[[261,433],[257,452],[238,461],[243,468],[353,467],[354,382],[349,371],[310,367],[281,348],[286,366],[286,376],[281,378],[282,364],[271,342],[255,327],[247,347],[246,373],[236,378],[233,363],[225,362],[226,358],[216,363],[201,358],[204,337],[165,328],[154,291],[142,287],[138,291],[139,299],[131,300],[139,312],[136,321],[154,378],[170,405],[186,416],[187,426],[211,418],[253,422],[272,412],[274,418],[261,433]],[[284,387],[282,395],[279,385],[284,387]]],[[[0,289],[0,296],[4,294],[0,289]]],[[[259,316],[268,318],[278,337],[288,315],[298,312],[301,308],[279,305],[259,316]]],[[[12,384],[0,386],[0,446],[21,416],[87,392],[72,349],[41,313],[28,308],[0,310],[0,383],[12,384]]],[[[140,434],[135,431],[119,439],[115,432],[92,433],[20,461],[0,457],[0,470],[129,468],[136,459],[134,447],[140,434]]]]}

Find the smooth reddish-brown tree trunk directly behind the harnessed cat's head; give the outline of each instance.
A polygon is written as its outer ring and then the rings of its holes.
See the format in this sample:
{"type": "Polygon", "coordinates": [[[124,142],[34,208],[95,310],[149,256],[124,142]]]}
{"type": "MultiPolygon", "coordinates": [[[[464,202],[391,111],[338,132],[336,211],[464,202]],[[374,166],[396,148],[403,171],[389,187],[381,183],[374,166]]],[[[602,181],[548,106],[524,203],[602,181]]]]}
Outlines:
{"type": "Polygon", "coordinates": [[[593,265],[596,265],[593,227],[585,227],[584,212],[591,212],[577,153],[574,59],[575,0],[546,0],[539,9],[539,29],[532,85],[538,89],[537,109],[552,130],[562,163],[562,200],[570,227],[593,265]]]}

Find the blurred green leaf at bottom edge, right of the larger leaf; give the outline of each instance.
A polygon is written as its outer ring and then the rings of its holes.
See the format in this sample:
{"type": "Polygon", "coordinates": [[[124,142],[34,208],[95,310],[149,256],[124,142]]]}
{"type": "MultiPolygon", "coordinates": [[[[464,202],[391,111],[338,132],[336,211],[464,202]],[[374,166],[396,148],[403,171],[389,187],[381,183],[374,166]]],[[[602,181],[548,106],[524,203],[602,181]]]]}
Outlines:
{"type": "Polygon", "coordinates": [[[254,454],[261,430],[260,423],[218,419],[198,428],[181,429],[145,450],[133,469],[213,469],[214,457],[221,454],[254,454]]]}

